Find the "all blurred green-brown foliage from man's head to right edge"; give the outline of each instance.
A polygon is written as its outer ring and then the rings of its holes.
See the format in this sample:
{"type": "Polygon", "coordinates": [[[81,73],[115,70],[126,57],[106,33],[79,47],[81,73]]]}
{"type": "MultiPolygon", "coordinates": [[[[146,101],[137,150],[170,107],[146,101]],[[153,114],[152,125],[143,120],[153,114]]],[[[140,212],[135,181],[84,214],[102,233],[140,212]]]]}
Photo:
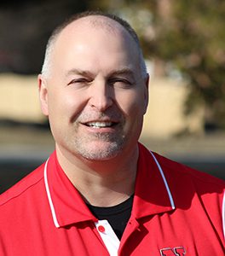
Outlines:
{"type": "Polygon", "coordinates": [[[205,125],[225,129],[225,2],[103,2],[135,27],[147,58],[169,63],[187,80],[186,113],[201,106],[205,125]]]}

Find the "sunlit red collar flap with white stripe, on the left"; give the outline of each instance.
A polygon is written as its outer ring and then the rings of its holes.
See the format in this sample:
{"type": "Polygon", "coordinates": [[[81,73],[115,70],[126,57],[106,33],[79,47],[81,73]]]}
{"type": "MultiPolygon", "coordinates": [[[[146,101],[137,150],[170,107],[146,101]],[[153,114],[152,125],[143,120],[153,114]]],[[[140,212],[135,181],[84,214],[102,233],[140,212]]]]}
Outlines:
{"type": "Polygon", "coordinates": [[[57,228],[84,221],[97,221],[57,160],[50,155],[44,167],[44,183],[57,228]]]}

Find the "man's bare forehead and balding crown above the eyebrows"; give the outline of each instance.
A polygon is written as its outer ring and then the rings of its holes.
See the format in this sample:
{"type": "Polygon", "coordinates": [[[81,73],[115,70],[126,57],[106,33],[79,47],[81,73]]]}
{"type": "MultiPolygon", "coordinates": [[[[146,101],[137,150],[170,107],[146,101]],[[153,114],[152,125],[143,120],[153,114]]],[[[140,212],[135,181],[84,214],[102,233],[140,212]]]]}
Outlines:
{"type": "Polygon", "coordinates": [[[73,68],[95,63],[97,68],[98,64],[113,67],[139,61],[139,51],[130,33],[117,21],[104,16],[73,21],[56,38],[54,48],[53,65],[61,65],[61,69],[66,65],[73,68]]]}

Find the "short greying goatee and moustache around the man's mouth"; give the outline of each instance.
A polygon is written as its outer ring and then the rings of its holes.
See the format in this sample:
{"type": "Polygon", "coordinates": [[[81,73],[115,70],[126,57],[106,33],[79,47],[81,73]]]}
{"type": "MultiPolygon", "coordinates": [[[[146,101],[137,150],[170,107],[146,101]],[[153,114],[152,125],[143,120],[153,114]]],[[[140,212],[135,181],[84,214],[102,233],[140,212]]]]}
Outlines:
{"type": "Polygon", "coordinates": [[[117,120],[115,132],[97,131],[92,134],[72,137],[69,147],[75,154],[87,160],[109,160],[117,156],[124,148],[126,137],[123,132],[124,116],[120,112],[107,113],[81,113],[74,120],[75,133],[78,134],[79,124],[89,120],[104,121],[106,119],[117,120]]]}

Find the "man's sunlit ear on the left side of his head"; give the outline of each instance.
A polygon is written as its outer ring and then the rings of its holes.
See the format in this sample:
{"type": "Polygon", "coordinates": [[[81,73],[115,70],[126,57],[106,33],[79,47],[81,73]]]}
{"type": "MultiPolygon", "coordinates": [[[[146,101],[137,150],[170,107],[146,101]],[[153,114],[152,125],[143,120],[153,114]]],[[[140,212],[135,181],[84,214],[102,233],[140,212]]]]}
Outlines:
{"type": "Polygon", "coordinates": [[[49,115],[47,81],[41,74],[38,75],[38,90],[41,109],[44,115],[49,115]]]}

